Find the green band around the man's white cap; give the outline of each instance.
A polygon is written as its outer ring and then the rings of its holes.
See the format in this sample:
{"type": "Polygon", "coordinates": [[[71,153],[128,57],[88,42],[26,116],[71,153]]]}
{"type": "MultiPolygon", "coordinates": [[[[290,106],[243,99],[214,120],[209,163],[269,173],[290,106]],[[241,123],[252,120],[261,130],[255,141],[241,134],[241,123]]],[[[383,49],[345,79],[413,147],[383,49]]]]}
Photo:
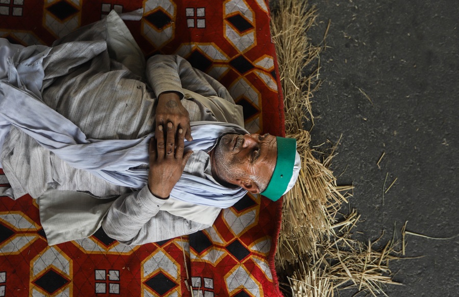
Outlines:
{"type": "Polygon", "coordinates": [[[284,195],[289,186],[295,165],[296,139],[276,137],[277,140],[277,161],[271,180],[266,190],[261,193],[272,201],[277,201],[284,195]]]}

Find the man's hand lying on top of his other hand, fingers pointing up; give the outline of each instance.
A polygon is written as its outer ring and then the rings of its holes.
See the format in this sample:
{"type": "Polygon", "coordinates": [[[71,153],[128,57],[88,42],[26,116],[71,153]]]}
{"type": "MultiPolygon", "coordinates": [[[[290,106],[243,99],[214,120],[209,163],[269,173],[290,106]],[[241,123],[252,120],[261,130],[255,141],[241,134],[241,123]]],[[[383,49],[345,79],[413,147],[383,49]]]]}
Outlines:
{"type": "Polygon", "coordinates": [[[156,128],[156,137],[151,138],[150,171],[148,172],[148,188],[151,194],[158,198],[167,199],[174,185],[182,176],[188,158],[193,153],[188,151],[184,155],[185,131],[179,126],[177,129],[177,143],[175,143],[175,128],[171,122],[156,128]],[[164,140],[166,134],[166,140],[164,140]]]}

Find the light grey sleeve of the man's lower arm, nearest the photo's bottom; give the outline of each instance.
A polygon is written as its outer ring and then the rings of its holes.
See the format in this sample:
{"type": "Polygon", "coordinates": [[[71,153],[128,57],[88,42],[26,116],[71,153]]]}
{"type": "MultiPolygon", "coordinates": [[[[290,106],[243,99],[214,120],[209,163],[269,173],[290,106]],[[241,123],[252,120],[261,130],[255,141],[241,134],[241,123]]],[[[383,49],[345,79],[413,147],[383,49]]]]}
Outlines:
{"type": "Polygon", "coordinates": [[[121,244],[135,246],[187,235],[209,228],[161,210],[165,200],[151,194],[148,186],[120,196],[110,207],[102,227],[121,244]]]}

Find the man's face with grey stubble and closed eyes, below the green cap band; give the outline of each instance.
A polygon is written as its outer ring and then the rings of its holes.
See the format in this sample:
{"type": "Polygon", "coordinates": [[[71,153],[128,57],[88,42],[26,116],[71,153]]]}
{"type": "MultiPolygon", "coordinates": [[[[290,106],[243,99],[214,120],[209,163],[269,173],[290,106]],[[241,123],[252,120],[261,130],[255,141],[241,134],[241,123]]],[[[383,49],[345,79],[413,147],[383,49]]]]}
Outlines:
{"type": "Polygon", "coordinates": [[[212,168],[224,181],[259,193],[271,179],[276,159],[277,142],[270,134],[225,134],[214,148],[212,168]]]}

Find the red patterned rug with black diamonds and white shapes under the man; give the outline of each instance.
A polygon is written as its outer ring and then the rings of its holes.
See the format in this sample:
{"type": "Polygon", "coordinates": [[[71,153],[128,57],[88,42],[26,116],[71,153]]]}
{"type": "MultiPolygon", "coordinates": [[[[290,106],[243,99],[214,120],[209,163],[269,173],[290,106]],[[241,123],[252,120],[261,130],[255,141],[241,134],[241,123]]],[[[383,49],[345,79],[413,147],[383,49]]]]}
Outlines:
{"type": "MultiPolygon", "coordinates": [[[[0,37],[50,45],[72,30],[118,13],[145,56],[177,54],[218,79],[244,107],[250,132],[283,136],[283,100],[264,0],[2,0],[0,37]]],[[[4,184],[0,170],[0,186],[4,184]]],[[[247,195],[214,226],[137,247],[99,230],[49,247],[30,196],[0,198],[2,296],[281,296],[273,259],[282,201],[247,195]],[[194,294],[193,294],[194,292],[194,294]]]]}

